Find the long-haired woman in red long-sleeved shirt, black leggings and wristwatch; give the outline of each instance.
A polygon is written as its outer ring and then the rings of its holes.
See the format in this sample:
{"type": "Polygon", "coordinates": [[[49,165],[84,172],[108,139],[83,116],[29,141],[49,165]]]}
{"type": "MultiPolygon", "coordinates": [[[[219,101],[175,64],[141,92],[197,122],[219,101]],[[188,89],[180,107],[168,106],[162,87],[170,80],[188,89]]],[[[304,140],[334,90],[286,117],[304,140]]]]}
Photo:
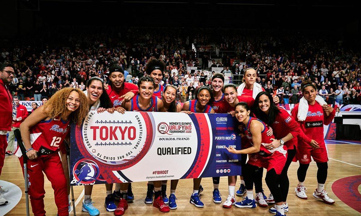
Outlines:
{"type": "MultiPolygon", "coordinates": [[[[276,138],[266,145],[266,148],[272,150],[273,148],[279,147],[281,144],[284,144],[287,147],[287,161],[279,178],[279,186],[282,192],[284,212],[288,212],[286,200],[290,182],[288,180],[287,171],[293,157],[296,155],[297,136],[299,136],[300,139],[310,139],[305,137],[300,126],[285,109],[275,105],[272,96],[268,92],[262,91],[258,93],[256,101],[257,103],[255,103],[252,108],[253,113],[255,113],[260,120],[273,128],[273,134],[276,138]]],[[[317,144],[314,140],[308,141],[308,143],[310,143],[310,145],[317,144]]],[[[276,213],[276,206],[270,208],[269,211],[271,213],[276,213]]]]}

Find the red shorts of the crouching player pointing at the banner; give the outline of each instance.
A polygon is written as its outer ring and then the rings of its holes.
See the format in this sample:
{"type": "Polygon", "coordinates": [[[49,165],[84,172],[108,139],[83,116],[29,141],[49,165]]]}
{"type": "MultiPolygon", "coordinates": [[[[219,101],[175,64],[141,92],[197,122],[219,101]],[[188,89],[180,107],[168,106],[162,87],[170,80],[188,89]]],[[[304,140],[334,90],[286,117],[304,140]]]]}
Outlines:
{"type": "Polygon", "coordinates": [[[248,158],[248,162],[251,165],[257,166],[257,167],[263,167],[267,169],[267,172],[271,169],[274,169],[276,171],[276,174],[281,174],[284,164],[286,164],[287,160],[287,147],[283,146],[284,151],[286,154],[283,154],[279,151],[275,151],[271,156],[263,157],[259,155],[258,153],[254,153],[248,158]]]}

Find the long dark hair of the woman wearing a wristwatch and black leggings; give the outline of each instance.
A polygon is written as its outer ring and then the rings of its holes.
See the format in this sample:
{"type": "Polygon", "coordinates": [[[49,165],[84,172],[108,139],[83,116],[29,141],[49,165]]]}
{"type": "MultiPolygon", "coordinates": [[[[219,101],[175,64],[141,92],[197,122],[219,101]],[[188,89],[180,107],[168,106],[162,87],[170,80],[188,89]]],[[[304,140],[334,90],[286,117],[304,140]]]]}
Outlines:
{"type": "Polygon", "coordinates": [[[255,99],[255,103],[253,104],[252,111],[253,111],[253,113],[255,113],[257,118],[259,118],[261,121],[265,122],[265,124],[267,124],[267,125],[273,124],[274,120],[276,118],[276,115],[280,113],[278,107],[276,106],[276,104],[273,101],[272,95],[266,91],[261,91],[260,93],[258,93],[258,95],[256,96],[256,99],[255,99]],[[268,100],[270,101],[270,108],[268,110],[268,114],[263,112],[258,105],[258,101],[260,100],[260,97],[262,95],[266,95],[268,97],[268,100]]]}

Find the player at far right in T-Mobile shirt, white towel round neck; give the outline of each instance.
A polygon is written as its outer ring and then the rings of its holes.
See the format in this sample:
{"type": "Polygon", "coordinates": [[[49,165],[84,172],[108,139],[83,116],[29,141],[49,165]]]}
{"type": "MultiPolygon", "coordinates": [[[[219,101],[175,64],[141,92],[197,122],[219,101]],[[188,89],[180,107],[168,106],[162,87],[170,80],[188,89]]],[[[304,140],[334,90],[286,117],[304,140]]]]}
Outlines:
{"type": "Polygon", "coordinates": [[[325,182],[327,178],[327,150],[325,140],[323,138],[323,125],[328,125],[335,117],[334,108],[317,95],[317,88],[311,82],[303,82],[301,85],[303,98],[300,103],[296,104],[291,114],[300,125],[301,130],[318,144],[310,146],[308,142],[298,141],[297,159],[300,167],[297,170],[298,185],[295,189],[299,198],[307,199],[306,187],[304,181],[311,156],[317,164],[317,189],[313,196],[322,199],[327,204],[334,204],[335,201],[329,198],[325,191],[325,182]]]}

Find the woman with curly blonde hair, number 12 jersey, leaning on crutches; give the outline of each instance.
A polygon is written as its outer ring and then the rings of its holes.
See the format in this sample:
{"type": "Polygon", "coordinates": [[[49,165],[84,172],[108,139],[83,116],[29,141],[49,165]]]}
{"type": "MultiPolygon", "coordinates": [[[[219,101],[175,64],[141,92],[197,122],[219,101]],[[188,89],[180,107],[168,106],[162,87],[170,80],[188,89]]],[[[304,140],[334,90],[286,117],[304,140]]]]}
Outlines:
{"type": "MultiPolygon", "coordinates": [[[[63,88],[20,125],[26,156],[29,158],[27,178],[32,212],[35,216],[45,215],[43,172],[54,189],[58,215],[69,215],[66,178],[58,151],[64,148],[64,139],[69,138],[70,123],[81,125],[87,113],[88,103],[85,94],[76,88],[63,88]]],[[[16,155],[23,166],[19,148],[16,155]]]]}

